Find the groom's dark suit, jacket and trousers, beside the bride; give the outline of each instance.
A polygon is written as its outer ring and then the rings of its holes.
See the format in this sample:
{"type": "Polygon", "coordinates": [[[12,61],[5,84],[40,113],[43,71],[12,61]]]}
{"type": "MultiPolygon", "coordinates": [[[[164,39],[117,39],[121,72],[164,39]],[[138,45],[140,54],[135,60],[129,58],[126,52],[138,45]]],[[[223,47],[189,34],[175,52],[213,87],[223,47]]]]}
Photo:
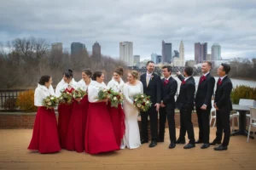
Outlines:
{"type": "Polygon", "coordinates": [[[141,76],[141,82],[143,82],[143,93],[150,96],[152,102],[151,107],[148,111],[141,114],[142,117],[142,137],[144,140],[148,140],[148,116],[150,119],[150,130],[152,140],[157,141],[158,139],[158,112],[154,106],[156,103],[160,104],[161,100],[161,89],[160,89],[160,77],[156,74],[152,74],[150,81],[146,81],[147,73],[141,76]]]}

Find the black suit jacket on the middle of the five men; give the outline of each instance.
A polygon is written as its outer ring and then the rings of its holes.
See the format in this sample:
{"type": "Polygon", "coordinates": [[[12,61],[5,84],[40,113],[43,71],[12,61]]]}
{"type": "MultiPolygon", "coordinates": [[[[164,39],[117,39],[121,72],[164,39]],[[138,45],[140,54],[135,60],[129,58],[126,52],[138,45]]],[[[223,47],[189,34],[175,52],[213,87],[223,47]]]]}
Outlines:
{"type": "MultiPolygon", "coordinates": [[[[183,81],[185,78],[181,75],[178,78],[183,81]]],[[[194,110],[195,99],[195,79],[189,77],[185,84],[181,84],[179,94],[176,101],[177,109],[194,110]]]]}

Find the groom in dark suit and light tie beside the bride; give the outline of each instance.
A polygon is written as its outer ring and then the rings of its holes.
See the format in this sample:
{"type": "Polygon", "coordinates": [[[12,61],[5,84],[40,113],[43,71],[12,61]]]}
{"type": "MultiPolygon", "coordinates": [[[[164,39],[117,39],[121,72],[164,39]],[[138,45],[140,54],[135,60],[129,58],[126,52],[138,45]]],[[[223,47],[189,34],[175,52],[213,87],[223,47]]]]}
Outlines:
{"type": "Polygon", "coordinates": [[[142,141],[141,143],[148,143],[148,116],[150,119],[150,131],[151,131],[151,144],[149,147],[157,145],[158,139],[158,111],[160,108],[161,100],[161,88],[160,77],[154,72],[154,62],[148,61],[147,73],[141,76],[141,82],[143,82],[143,93],[150,96],[152,102],[151,107],[146,112],[142,112],[142,141]]]}

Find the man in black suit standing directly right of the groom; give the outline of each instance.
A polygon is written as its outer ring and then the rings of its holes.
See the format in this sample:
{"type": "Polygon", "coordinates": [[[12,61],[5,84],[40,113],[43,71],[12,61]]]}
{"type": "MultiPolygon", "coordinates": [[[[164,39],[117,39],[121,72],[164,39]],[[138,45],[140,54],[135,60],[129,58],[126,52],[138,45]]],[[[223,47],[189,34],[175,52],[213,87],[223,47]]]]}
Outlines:
{"type": "Polygon", "coordinates": [[[164,142],[165,139],[165,128],[166,128],[166,116],[169,125],[169,135],[171,144],[169,148],[175,148],[176,146],[176,129],[175,129],[175,95],[177,93],[177,81],[171,76],[172,67],[163,66],[162,73],[164,78],[161,80],[161,91],[162,100],[160,104],[160,131],[159,131],[159,142],[164,142]]]}

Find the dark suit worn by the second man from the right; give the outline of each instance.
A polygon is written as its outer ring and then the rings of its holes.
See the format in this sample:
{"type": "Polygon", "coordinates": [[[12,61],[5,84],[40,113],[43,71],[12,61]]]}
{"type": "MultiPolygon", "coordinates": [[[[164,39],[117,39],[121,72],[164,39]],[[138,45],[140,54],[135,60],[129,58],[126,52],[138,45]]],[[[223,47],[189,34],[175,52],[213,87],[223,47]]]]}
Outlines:
{"type": "Polygon", "coordinates": [[[215,79],[210,73],[204,81],[198,84],[195,95],[196,114],[198,118],[199,140],[204,144],[209,144],[210,136],[210,114],[212,109],[212,94],[214,90],[215,79]],[[201,110],[202,105],[207,105],[207,110],[201,110]]]}

